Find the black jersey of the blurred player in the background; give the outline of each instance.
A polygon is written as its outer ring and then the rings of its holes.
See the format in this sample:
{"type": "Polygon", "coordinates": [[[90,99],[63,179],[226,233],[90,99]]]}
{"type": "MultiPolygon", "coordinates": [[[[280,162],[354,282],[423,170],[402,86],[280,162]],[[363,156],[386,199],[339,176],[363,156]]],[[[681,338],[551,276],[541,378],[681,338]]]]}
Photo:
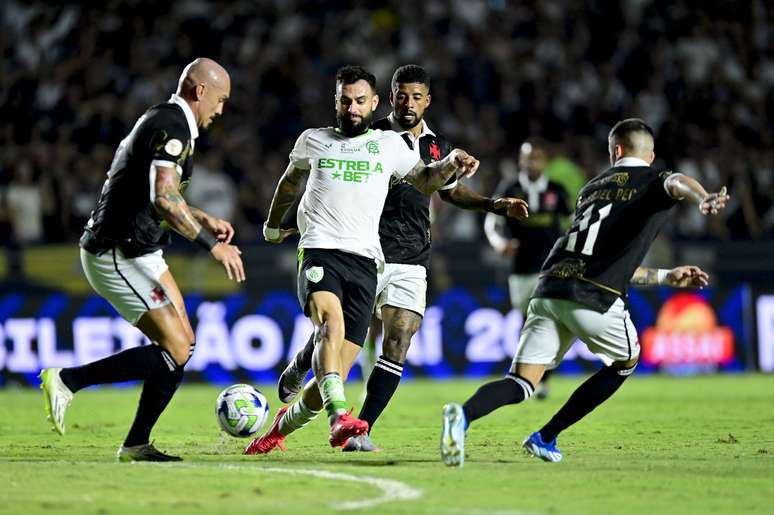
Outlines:
{"type": "Polygon", "coordinates": [[[526,174],[498,189],[497,197],[513,197],[529,204],[529,217],[524,220],[506,218],[505,224],[519,249],[513,257],[514,274],[540,272],[556,239],[561,236],[562,219],[570,214],[567,190],[547,178],[531,183],[526,174]]]}

